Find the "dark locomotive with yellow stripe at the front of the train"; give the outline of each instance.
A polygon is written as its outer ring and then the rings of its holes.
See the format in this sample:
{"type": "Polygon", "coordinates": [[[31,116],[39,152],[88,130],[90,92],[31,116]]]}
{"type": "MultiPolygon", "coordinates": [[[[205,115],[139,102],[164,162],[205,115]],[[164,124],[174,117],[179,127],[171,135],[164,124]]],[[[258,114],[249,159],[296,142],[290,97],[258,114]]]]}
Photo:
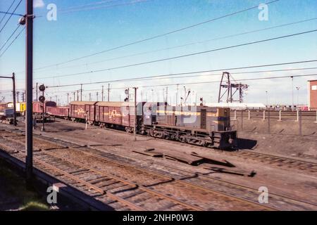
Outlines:
{"type": "Polygon", "coordinates": [[[150,136],[216,148],[232,148],[237,139],[229,108],[152,104],[144,112],[143,129],[150,136]]]}

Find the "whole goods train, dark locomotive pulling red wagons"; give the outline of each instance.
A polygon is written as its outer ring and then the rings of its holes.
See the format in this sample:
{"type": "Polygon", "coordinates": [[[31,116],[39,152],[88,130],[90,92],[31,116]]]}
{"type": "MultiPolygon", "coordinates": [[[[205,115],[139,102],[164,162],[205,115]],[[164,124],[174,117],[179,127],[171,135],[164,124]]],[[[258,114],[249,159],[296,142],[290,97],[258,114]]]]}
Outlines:
{"type": "Polygon", "coordinates": [[[230,126],[230,108],[172,106],[166,103],[73,101],[69,107],[55,102],[33,103],[35,115],[44,113],[101,128],[123,129],[132,133],[227,149],[237,142],[237,131],[230,126]],[[135,122],[135,111],[137,112],[135,122]]]}

